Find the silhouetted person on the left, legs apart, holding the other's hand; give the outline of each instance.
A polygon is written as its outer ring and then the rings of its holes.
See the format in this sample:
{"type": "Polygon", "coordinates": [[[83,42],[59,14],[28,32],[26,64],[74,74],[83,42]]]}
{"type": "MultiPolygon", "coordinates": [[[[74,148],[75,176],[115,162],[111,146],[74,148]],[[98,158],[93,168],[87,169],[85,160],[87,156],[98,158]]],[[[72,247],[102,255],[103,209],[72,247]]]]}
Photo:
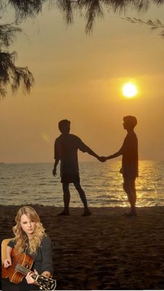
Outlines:
{"type": "Polygon", "coordinates": [[[79,165],[78,165],[78,149],[83,152],[89,153],[91,156],[99,159],[99,156],[92,151],[87,145],[85,145],[80,138],[76,135],[70,134],[70,122],[67,119],[63,119],[58,123],[58,128],[61,132],[61,135],[56,138],[55,141],[55,163],[53,174],[56,176],[56,167],[60,160],[60,176],[61,183],[63,183],[63,201],[64,201],[64,210],[58,215],[69,215],[69,201],[70,201],[70,192],[69,192],[69,183],[74,183],[74,187],[79,192],[81,201],[84,206],[84,213],[82,216],[91,215],[90,210],[88,209],[87,199],[85,197],[85,192],[80,185],[79,177],[79,165]]]}

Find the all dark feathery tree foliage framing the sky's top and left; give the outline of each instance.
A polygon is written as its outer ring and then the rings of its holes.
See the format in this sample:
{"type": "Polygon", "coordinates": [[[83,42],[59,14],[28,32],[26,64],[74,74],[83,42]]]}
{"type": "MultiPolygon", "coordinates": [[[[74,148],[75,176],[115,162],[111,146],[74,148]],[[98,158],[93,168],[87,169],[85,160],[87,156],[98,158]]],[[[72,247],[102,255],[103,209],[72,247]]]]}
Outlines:
{"type": "MultiPolygon", "coordinates": [[[[161,6],[163,3],[164,0],[1,0],[1,15],[10,6],[15,11],[15,24],[0,24],[0,98],[6,95],[8,85],[15,91],[22,83],[26,92],[29,92],[33,85],[31,72],[27,67],[16,67],[16,53],[10,53],[6,49],[10,47],[15,35],[22,31],[19,24],[28,17],[35,18],[42,11],[43,5],[47,5],[49,9],[59,9],[66,24],[72,24],[74,13],[79,13],[86,21],[85,32],[90,33],[97,17],[104,17],[106,10],[113,13],[127,12],[129,9],[146,11],[152,4],[161,6]]],[[[126,20],[149,25],[151,30],[163,28],[159,20],[144,21],[129,17],[126,20]]],[[[164,32],[161,34],[164,35],[164,32]]]]}

